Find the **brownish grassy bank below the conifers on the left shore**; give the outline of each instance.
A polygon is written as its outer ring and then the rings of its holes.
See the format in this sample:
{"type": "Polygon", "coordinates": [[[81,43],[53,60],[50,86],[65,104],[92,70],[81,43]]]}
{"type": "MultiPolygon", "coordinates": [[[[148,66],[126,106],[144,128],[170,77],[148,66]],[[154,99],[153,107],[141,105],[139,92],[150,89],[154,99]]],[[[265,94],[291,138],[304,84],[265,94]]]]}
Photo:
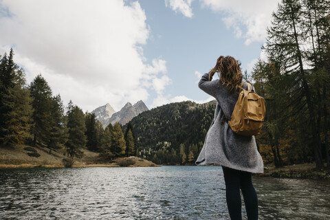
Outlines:
{"type": "MultiPolygon", "coordinates": [[[[33,146],[39,157],[28,155],[31,151],[26,150],[26,145],[8,146],[0,148],[0,168],[63,168],[63,159],[68,158],[63,155],[63,151],[52,151],[42,146],[33,146]]],[[[72,167],[96,167],[96,166],[157,166],[146,159],[139,157],[120,157],[112,162],[104,161],[99,153],[83,149],[84,156],[75,158],[72,167]]]]}

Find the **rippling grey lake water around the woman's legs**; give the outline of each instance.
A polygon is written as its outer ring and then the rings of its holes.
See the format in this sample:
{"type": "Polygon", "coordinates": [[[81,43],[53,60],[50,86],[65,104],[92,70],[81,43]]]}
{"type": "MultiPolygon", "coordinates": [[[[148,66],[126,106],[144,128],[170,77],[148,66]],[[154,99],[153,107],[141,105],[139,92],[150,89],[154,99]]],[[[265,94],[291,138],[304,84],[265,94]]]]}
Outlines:
{"type": "MultiPolygon", "coordinates": [[[[329,181],[253,177],[253,182],[260,219],[330,219],[329,181]]],[[[0,219],[229,216],[220,166],[162,166],[0,170],[0,219]]]]}

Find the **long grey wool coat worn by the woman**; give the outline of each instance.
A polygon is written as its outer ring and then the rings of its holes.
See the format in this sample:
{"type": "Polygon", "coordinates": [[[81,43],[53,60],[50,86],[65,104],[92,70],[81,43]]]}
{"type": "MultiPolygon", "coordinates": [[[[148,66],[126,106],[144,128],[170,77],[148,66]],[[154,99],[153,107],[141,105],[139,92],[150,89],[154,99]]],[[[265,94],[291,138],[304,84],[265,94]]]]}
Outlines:
{"type": "MultiPolygon", "coordinates": [[[[263,159],[257,151],[255,137],[237,135],[230,129],[227,120],[221,124],[225,115],[230,120],[238,94],[230,94],[219,80],[208,80],[208,74],[201,77],[198,86],[217,100],[217,107],[196,164],[219,164],[250,173],[263,173],[263,159]]],[[[248,89],[247,83],[243,88],[248,89]]]]}

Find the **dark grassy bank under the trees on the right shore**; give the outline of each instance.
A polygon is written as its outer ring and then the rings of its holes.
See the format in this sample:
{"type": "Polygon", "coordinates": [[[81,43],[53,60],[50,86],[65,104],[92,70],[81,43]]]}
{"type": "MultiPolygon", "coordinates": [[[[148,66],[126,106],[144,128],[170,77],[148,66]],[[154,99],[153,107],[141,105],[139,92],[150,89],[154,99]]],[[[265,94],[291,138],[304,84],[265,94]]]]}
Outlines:
{"type": "Polygon", "coordinates": [[[294,164],[276,168],[274,166],[265,167],[263,177],[278,177],[292,179],[330,179],[330,170],[317,170],[316,164],[294,164]]]}

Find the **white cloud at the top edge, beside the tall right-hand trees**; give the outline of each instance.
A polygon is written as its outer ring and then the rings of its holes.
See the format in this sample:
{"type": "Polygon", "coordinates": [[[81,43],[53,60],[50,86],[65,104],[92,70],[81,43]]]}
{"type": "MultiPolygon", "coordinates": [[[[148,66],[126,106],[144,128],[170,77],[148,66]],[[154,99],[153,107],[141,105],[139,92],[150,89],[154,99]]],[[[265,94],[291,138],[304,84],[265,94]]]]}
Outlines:
{"type": "Polygon", "coordinates": [[[245,45],[264,41],[266,28],[272,20],[272,12],[280,0],[201,0],[204,7],[223,13],[227,28],[233,28],[237,38],[244,38],[245,45]],[[243,27],[241,27],[243,26],[243,27]],[[243,31],[242,28],[246,31],[243,31]]]}

